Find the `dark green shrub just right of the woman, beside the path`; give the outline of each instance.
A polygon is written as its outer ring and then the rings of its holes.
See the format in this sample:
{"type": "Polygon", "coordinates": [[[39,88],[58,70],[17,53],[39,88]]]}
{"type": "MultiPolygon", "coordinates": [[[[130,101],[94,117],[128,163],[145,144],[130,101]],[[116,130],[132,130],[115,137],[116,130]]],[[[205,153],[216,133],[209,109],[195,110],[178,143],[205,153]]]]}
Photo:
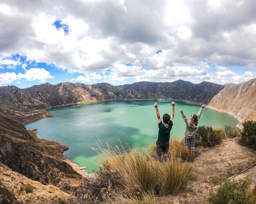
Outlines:
{"type": "Polygon", "coordinates": [[[195,134],[195,146],[213,147],[216,144],[216,132],[212,127],[198,127],[195,134]]]}

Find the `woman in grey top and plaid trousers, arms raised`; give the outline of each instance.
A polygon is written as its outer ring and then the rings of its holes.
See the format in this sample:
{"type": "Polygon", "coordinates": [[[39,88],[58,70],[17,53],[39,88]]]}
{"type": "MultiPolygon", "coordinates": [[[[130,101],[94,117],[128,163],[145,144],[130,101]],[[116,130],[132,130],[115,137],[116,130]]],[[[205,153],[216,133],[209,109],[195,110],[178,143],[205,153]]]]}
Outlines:
{"type": "Polygon", "coordinates": [[[186,123],[186,130],[185,130],[185,138],[184,138],[184,146],[186,149],[189,149],[189,144],[193,154],[195,153],[195,132],[198,128],[199,119],[204,108],[204,104],[201,106],[198,114],[192,114],[190,120],[186,117],[185,113],[183,112],[182,108],[180,108],[180,112],[182,114],[182,118],[186,123]]]}

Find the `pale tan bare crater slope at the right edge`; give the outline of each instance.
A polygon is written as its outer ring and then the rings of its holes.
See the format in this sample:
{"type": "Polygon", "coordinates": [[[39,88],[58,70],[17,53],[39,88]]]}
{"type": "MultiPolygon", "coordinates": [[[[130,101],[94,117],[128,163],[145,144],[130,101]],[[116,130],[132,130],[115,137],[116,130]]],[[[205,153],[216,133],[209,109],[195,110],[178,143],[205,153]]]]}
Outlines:
{"type": "Polygon", "coordinates": [[[256,79],[244,83],[228,83],[211,99],[208,107],[234,115],[242,127],[246,120],[256,120],[256,79]]]}

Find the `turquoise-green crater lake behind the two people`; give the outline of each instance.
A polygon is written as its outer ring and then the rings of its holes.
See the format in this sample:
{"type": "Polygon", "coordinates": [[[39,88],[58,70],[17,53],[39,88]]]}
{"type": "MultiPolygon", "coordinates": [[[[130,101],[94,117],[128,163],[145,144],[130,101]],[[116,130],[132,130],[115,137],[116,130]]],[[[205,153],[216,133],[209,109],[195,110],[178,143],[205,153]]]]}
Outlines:
{"type": "MultiPolygon", "coordinates": [[[[98,140],[112,146],[128,143],[130,146],[148,147],[157,140],[158,125],[154,103],[162,115],[171,115],[171,101],[101,101],[81,103],[65,107],[53,107],[47,111],[53,118],[44,118],[25,125],[27,129],[38,129],[38,137],[58,140],[68,145],[64,154],[67,159],[87,166],[88,172],[97,169],[98,156],[91,147],[96,147],[98,140]]],[[[182,138],[185,123],[180,113],[182,107],[186,116],[197,114],[200,106],[175,101],[175,116],[170,138],[182,138]]],[[[238,120],[231,114],[205,107],[199,126],[224,125],[236,126],[238,120]]]]}

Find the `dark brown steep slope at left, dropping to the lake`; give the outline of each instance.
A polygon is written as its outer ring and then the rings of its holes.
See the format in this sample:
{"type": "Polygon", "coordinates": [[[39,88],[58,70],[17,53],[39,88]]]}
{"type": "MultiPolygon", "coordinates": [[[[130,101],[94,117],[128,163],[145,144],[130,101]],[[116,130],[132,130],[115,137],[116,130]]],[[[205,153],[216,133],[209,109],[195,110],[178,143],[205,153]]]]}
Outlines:
{"type": "Polygon", "coordinates": [[[57,141],[39,139],[35,132],[0,113],[0,162],[13,171],[62,188],[63,181],[81,179],[65,162],[61,153],[66,149],[66,145],[57,141]]]}

